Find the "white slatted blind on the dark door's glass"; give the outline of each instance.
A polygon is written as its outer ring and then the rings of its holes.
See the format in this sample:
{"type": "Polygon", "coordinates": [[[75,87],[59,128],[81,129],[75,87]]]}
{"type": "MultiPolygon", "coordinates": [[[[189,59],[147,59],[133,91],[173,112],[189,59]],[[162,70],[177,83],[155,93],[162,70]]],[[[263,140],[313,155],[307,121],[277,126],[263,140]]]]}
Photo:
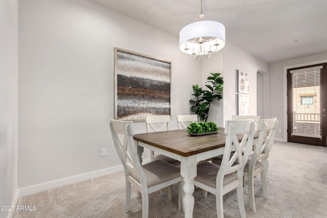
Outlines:
{"type": "Polygon", "coordinates": [[[322,66],[290,70],[293,102],[291,135],[321,138],[321,69],[322,66]],[[310,99],[303,101],[303,99],[310,99]],[[311,100],[312,99],[312,100],[311,100]]]}

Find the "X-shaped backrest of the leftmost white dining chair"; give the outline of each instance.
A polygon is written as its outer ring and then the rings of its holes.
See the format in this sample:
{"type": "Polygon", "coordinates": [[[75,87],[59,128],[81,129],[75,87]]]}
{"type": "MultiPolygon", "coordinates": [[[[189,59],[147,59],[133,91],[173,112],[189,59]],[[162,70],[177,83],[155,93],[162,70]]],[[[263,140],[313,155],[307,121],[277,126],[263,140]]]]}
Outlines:
{"type": "Polygon", "coordinates": [[[137,157],[135,143],[133,139],[133,122],[111,119],[110,130],[114,147],[121,159],[125,175],[135,172],[141,179],[141,183],[147,184],[141,163],[137,157]]]}

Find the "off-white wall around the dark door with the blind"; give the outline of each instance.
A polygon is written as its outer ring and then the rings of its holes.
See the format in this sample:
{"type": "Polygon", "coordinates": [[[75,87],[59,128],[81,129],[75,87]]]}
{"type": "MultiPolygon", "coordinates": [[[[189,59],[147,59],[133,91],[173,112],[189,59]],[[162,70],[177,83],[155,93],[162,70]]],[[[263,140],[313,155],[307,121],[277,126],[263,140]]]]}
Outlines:
{"type": "Polygon", "coordinates": [[[269,64],[269,67],[272,68],[269,71],[269,104],[274,105],[270,108],[270,116],[283,120],[283,122],[278,123],[278,129],[281,129],[281,132],[277,131],[276,139],[287,141],[287,69],[325,62],[327,62],[327,53],[269,64]]]}

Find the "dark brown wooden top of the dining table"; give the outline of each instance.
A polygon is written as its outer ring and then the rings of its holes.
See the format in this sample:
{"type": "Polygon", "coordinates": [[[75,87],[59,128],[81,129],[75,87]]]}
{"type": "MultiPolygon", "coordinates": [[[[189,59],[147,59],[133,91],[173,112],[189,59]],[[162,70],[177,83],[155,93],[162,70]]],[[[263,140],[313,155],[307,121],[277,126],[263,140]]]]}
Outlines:
{"type": "Polygon", "coordinates": [[[224,147],[226,141],[224,128],[219,128],[219,130],[217,134],[201,136],[191,136],[186,130],[142,133],[135,134],[134,140],[188,157],[224,147]]]}

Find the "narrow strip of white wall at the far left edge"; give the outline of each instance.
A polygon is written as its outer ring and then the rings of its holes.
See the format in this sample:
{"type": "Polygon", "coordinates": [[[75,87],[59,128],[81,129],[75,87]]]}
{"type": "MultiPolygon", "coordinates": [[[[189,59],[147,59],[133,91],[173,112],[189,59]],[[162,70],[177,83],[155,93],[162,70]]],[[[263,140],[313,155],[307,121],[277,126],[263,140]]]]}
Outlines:
{"type": "MultiPolygon", "coordinates": [[[[0,1],[0,206],[15,205],[17,192],[17,1],[0,1]]],[[[0,210],[0,217],[10,211],[0,210]]]]}

